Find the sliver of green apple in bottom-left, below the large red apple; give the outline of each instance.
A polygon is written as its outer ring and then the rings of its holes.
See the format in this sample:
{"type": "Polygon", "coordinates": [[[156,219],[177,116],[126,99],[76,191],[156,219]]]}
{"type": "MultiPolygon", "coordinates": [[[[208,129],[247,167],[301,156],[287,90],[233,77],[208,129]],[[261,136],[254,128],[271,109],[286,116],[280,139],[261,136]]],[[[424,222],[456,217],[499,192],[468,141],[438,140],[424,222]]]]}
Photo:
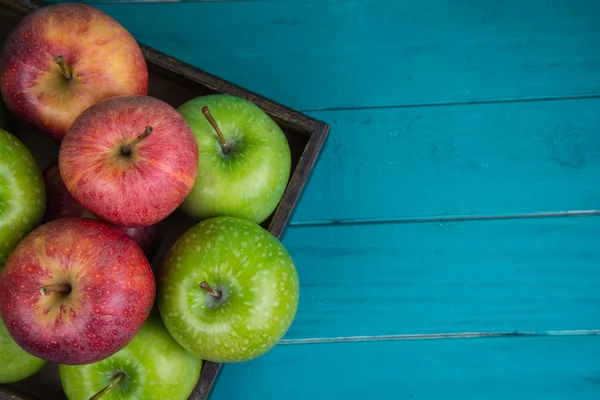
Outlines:
{"type": "Polygon", "coordinates": [[[0,383],[12,383],[38,372],[46,361],[23,350],[10,336],[0,318],[0,383]]]}

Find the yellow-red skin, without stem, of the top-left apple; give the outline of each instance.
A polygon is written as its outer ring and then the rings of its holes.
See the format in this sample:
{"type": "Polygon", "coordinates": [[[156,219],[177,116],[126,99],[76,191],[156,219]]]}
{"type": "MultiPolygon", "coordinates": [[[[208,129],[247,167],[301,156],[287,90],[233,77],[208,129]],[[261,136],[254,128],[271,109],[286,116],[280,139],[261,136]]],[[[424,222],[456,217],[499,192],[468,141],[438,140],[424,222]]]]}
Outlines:
{"type": "Polygon", "coordinates": [[[27,14],[6,39],[0,86],[15,117],[60,141],[97,101],[145,95],[148,69],[133,36],[108,14],[86,4],[53,4],[27,14]]]}

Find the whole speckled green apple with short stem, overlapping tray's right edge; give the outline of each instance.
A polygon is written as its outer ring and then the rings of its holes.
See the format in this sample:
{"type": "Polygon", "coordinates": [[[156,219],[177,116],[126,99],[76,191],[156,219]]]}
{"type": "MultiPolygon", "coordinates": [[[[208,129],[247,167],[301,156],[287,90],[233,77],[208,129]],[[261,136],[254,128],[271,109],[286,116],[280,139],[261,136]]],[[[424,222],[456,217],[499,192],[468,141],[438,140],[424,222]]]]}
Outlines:
{"type": "Polygon", "coordinates": [[[242,362],[266,353],[298,308],[292,258],[277,238],[241,218],[194,225],[169,249],[159,275],[165,326],[205,360],[242,362]]]}

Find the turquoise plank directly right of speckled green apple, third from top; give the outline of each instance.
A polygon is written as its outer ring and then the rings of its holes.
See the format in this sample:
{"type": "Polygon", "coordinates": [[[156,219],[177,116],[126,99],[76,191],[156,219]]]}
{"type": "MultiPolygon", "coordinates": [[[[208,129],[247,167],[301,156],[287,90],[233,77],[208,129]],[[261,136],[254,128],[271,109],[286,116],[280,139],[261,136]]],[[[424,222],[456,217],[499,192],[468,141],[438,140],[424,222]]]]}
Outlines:
{"type": "Polygon", "coordinates": [[[291,228],[285,339],[600,329],[600,217],[291,228]]]}

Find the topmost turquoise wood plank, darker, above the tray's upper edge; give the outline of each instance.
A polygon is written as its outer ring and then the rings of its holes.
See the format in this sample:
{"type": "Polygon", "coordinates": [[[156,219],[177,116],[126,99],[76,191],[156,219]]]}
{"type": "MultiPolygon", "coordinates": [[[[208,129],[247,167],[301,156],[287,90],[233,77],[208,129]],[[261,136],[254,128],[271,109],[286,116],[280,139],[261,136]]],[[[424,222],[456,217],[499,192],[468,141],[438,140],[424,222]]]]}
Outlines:
{"type": "Polygon", "coordinates": [[[303,110],[600,93],[596,0],[100,7],[138,40],[303,110]]]}

